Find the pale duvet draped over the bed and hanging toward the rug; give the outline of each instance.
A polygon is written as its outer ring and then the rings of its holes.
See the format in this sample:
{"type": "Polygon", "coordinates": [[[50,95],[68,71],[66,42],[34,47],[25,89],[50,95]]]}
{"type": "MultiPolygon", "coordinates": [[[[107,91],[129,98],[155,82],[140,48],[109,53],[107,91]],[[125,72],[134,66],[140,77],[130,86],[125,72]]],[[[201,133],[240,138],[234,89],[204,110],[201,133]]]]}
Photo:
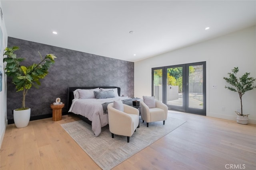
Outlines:
{"type": "Polygon", "coordinates": [[[69,112],[87,117],[92,121],[92,131],[95,136],[100,135],[101,127],[108,124],[108,114],[103,114],[102,104],[113,102],[114,100],[125,100],[126,97],[116,97],[107,99],[73,99],[69,112]]]}

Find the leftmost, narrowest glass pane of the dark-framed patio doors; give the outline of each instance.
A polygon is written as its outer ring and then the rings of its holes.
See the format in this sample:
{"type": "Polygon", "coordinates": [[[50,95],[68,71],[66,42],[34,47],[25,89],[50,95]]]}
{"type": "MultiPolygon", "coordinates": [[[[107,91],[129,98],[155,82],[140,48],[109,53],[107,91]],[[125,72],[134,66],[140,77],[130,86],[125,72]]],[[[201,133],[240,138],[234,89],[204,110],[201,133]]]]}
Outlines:
{"type": "Polygon", "coordinates": [[[154,96],[156,100],[162,102],[162,74],[163,70],[154,70],[154,96]]]}

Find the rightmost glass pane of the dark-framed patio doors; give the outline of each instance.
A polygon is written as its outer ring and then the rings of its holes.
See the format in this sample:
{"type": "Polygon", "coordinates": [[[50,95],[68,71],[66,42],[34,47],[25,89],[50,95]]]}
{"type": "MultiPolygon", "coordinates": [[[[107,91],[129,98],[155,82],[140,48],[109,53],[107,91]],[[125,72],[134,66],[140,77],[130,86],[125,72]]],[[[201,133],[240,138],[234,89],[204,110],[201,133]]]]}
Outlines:
{"type": "Polygon", "coordinates": [[[189,66],[188,107],[203,109],[203,65],[189,66]]]}

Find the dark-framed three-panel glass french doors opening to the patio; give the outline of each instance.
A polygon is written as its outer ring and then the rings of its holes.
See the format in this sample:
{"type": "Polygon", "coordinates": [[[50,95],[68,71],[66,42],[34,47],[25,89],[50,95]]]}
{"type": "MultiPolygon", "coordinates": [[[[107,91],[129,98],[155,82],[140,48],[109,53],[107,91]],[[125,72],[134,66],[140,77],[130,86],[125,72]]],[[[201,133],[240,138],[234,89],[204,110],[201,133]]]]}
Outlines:
{"type": "Polygon", "coordinates": [[[206,62],[152,68],[152,95],[168,109],[206,115],[206,62]]]}

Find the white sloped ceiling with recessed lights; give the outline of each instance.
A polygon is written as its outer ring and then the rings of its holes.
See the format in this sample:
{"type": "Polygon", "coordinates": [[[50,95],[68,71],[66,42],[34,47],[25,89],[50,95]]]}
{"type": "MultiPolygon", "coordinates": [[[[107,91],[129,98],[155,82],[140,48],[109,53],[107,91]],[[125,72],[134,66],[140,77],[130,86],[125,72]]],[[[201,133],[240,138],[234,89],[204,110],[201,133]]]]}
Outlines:
{"type": "Polygon", "coordinates": [[[256,0],[0,2],[9,37],[132,62],[256,24],[256,0]]]}

